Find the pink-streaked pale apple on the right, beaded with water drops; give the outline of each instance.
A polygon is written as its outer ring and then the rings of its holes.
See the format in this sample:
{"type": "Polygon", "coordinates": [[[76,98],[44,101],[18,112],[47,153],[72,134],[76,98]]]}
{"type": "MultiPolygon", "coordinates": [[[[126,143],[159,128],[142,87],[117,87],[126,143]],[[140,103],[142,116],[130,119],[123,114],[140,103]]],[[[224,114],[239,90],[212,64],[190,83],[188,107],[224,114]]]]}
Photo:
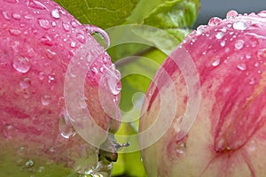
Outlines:
{"type": "MultiPolygon", "coordinates": [[[[166,59],[153,80],[168,72],[178,104],[171,127],[142,150],[148,176],[261,177],[266,174],[266,12],[212,18],[193,31],[166,59]],[[186,50],[200,76],[200,109],[188,134],[179,137],[186,82],[175,56],[186,50]]],[[[186,59],[186,58],[184,58],[186,59]]],[[[152,83],[139,131],[156,121],[160,97],[171,91],[152,83]],[[159,91],[160,90],[160,91],[159,91]]],[[[168,98],[169,102],[171,98],[168,98]]],[[[167,115],[162,113],[162,116],[167,115]]],[[[167,117],[165,118],[167,121],[167,117]]],[[[149,135],[140,136],[140,143],[149,135]]]]}

